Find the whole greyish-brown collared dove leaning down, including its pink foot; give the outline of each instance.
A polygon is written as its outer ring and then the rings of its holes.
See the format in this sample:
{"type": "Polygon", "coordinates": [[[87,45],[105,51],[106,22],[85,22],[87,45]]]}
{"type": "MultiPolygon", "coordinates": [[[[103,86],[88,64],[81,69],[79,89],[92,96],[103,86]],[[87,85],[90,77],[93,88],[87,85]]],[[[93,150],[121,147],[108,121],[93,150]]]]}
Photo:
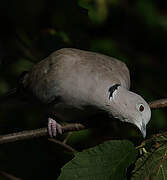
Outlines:
{"type": "MultiPolygon", "coordinates": [[[[129,70],[115,58],[60,49],[25,74],[22,85],[41,102],[52,103],[55,114],[61,108],[86,113],[86,106],[96,107],[97,111],[104,110],[114,118],[136,125],[146,136],[150,107],[141,96],[129,91],[129,70]]],[[[50,136],[56,136],[56,131],[62,133],[61,125],[52,118],[48,119],[48,130],[50,136]]]]}

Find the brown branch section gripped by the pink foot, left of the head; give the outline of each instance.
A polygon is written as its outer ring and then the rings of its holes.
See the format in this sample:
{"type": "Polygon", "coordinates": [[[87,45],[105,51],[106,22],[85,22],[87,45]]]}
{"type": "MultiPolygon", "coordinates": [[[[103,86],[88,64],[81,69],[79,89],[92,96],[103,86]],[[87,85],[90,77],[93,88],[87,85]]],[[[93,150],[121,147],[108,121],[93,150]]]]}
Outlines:
{"type": "MultiPolygon", "coordinates": [[[[63,132],[69,131],[79,131],[85,129],[85,126],[82,124],[68,124],[62,127],[63,132]]],[[[47,128],[35,129],[35,130],[26,130],[17,133],[11,133],[7,135],[0,136],[0,144],[21,141],[25,139],[32,139],[42,136],[47,136],[48,130],[47,128]]]]}

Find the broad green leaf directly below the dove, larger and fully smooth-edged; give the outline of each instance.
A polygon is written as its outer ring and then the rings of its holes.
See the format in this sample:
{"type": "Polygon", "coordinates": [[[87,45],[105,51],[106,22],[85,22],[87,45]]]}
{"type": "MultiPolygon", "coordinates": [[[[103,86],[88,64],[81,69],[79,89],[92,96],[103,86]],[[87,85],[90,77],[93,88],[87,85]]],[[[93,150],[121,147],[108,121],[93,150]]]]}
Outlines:
{"type": "Polygon", "coordinates": [[[58,180],[126,179],[126,169],[135,159],[136,150],[130,141],[107,141],[76,153],[58,180]]]}

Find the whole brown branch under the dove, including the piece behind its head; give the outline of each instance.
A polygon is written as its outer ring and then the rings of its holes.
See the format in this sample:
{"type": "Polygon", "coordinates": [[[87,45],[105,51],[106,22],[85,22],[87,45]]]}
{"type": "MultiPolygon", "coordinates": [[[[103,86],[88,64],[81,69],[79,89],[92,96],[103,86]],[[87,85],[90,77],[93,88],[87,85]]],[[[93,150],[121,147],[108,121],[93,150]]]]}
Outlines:
{"type": "MultiPolygon", "coordinates": [[[[149,103],[151,109],[158,109],[167,107],[167,98],[160,99],[156,101],[152,101],[149,103]]],[[[71,131],[79,131],[85,129],[86,127],[82,124],[68,124],[62,127],[63,132],[71,132],[71,131]]],[[[35,129],[35,130],[27,130],[17,133],[11,133],[7,135],[0,136],[0,144],[21,141],[25,139],[38,138],[42,136],[47,136],[47,128],[35,129]]]]}

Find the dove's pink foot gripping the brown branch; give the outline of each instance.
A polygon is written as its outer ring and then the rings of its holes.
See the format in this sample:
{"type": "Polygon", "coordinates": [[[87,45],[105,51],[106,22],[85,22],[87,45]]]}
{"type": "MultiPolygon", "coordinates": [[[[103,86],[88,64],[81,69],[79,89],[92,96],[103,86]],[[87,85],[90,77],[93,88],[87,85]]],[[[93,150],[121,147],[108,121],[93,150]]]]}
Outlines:
{"type": "Polygon", "coordinates": [[[48,118],[48,133],[50,137],[56,137],[57,131],[62,134],[62,127],[54,119],[48,118]]]}

